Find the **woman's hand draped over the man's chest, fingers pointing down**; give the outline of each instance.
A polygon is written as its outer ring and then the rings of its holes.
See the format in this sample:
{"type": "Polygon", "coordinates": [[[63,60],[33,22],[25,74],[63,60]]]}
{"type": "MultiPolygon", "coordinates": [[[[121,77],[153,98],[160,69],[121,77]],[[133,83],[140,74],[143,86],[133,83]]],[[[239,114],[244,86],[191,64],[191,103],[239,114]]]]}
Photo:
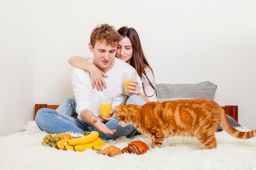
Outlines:
{"type": "Polygon", "coordinates": [[[92,79],[92,88],[96,86],[97,91],[103,91],[103,87],[106,89],[106,83],[103,77],[108,77],[100,68],[92,64],[89,69],[90,77],[92,79]]]}

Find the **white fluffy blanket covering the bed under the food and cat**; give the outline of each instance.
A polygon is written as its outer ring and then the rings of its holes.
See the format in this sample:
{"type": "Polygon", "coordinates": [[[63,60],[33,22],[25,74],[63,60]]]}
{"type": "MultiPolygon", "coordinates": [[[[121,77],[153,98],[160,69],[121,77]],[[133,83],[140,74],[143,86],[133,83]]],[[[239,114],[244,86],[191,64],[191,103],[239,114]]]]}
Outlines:
{"type": "MultiPolygon", "coordinates": [[[[23,129],[0,137],[1,170],[256,170],[256,137],[236,139],[225,131],[216,132],[216,149],[204,149],[194,137],[172,137],[166,139],[170,146],[150,148],[144,155],[108,157],[90,149],[75,152],[41,146],[47,133],[38,131],[34,121],[29,121],[23,129]]],[[[147,135],[106,141],[106,146],[122,149],[135,140],[150,146],[147,135]]]]}

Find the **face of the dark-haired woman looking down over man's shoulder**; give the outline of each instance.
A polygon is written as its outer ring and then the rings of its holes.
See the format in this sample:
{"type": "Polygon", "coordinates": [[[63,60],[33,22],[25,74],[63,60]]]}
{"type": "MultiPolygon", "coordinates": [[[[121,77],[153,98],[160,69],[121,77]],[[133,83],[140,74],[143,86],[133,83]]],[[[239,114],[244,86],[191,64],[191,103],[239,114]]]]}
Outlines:
{"type": "Polygon", "coordinates": [[[130,38],[123,37],[123,39],[117,45],[117,58],[130,64],[130,60],[133,56],[132,42],[130,38]]]}

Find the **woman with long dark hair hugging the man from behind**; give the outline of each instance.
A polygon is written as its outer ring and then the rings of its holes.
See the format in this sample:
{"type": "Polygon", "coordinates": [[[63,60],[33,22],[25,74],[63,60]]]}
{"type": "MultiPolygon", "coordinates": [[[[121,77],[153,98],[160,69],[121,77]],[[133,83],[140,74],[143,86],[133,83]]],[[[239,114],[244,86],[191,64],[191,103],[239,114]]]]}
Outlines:
{"type": "MultiPolygon", "coordinates": [[[[137,31],[130,27],[123,26],[117,30],[123,39],[118,43],[116,57],[133,66],[142,80],[144,94],[140,93],[137,80],[129,83],[134,90],[129,91],[131,95],[126,104],[143,105],[146,102],[156,102],[155,77],[152,68],[149,66],[143,53],[137,31]]],[[[68,62],[77,68],[89,71],[92,79],[92,87],[103,91],[106,87],[103,77],[107,77],[98,67],[87,62],[82,57],[70,57],[68,62]]]]}

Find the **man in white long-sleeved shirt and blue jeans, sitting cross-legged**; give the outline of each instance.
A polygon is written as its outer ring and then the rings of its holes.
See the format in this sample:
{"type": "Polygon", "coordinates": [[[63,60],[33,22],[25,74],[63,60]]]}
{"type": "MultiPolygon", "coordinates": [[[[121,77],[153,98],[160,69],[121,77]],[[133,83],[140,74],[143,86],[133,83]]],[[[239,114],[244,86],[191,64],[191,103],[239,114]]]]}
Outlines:
{"type": "MultiPolygon", "coordinates": [[[[116,139],[120,136],[131,137],[137,129],[133,125],[122,127],[117,123],[116,110],[113,108],[110,118],[99,117],[99,98],[113,97],[113,106],[126,104],[128,96],[124,91],[124,72],[136,72],[135,68],[115,57],[117,44],[121,41],[121,35],[113,26],[101,24],[92,31],[89,50],[93,58],[89,60],[99,67],[108,78],[105,83],[108,86],[104,91],[93,89],[88,71],[75,68],[72,73],[73,91],[76,99],[77,119],[65,115],[61,111],[42,108],[36,114],[36,124],[41,130],[49,133],[79,132],[97,130],[102,139],[116,139]]],[[[141,79],[137,75],[140,91],[143,92],[141,79]]]]}

